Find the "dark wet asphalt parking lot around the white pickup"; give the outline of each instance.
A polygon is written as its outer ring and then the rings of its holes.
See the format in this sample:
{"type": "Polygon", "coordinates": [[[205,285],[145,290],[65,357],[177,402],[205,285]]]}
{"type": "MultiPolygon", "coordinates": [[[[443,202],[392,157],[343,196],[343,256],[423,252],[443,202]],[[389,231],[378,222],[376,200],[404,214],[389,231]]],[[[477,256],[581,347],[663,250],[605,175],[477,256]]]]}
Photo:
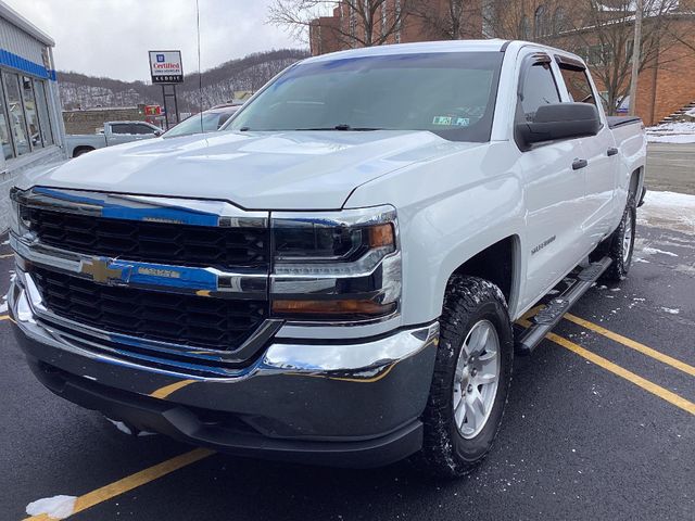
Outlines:
{"type": "MultiPolygon", "coordinates": [[[[593,288],[517,358],[496,447],[460,481],[407,462],[314,468],[128,436],[41,386],[3,312],[0,519],[56,495],[78,497],[76,521],[693,519],[694,236],[640,228],[628,280],[593,288]]],[[[0,247],[4,292],[13,260],[0,247]]]]}

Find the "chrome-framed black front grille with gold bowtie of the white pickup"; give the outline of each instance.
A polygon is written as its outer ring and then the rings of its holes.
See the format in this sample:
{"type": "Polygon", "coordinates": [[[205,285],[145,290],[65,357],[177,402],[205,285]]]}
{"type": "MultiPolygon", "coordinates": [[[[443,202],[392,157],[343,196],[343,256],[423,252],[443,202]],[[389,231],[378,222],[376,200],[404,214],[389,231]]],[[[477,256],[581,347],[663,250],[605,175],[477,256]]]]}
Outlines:
{"type": "Polygon", "coordinates": [[[268,318],[267,213],[40,187],[12,200],[11,242],[35,313],[85,345],[224,373],[280,326],[268,318]]]}

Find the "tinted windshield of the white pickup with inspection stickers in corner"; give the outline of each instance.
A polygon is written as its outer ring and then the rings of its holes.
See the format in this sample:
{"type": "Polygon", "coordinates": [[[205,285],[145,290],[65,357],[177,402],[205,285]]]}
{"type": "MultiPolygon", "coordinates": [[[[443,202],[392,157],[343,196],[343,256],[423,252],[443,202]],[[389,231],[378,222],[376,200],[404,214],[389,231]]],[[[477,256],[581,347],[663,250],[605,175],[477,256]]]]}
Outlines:
{"type": "Polygon", "coordinates": [[[225,130],[430,130],[488,141],[502,52],[359,56],[290,68],[225,130]]]}

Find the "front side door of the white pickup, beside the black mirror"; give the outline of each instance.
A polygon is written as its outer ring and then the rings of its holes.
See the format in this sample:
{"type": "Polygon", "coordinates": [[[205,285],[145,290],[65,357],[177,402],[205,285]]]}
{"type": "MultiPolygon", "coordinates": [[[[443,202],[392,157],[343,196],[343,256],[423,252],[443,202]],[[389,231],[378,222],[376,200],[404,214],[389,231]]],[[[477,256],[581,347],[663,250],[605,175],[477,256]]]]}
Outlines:
{"type": "MultiPolygon", "coordinates": [[[[560,103],[558,78],[545,53],[522,62],[515,123],[533,120],[542,104],[560,103]]],[[[580,260],[584,207],[584,168],[572,168],[583,157],[580,139],[534,144],[519,158],[526,199],[526,295],[544,294],[580,260]]],[[[523,304],[529,304],[525,302],[523,304]]]]}

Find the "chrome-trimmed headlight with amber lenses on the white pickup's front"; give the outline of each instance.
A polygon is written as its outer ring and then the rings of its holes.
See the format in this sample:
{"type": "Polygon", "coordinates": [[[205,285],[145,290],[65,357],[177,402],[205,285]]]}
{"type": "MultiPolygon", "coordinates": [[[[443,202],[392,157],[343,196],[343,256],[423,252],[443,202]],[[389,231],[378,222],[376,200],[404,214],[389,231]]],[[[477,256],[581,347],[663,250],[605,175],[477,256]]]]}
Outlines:
{"type": "Polygon", "coordinates": [[[273,213],[273,315],[365,321],[397,312],[401,251],[392,206],[273,213]]]}

